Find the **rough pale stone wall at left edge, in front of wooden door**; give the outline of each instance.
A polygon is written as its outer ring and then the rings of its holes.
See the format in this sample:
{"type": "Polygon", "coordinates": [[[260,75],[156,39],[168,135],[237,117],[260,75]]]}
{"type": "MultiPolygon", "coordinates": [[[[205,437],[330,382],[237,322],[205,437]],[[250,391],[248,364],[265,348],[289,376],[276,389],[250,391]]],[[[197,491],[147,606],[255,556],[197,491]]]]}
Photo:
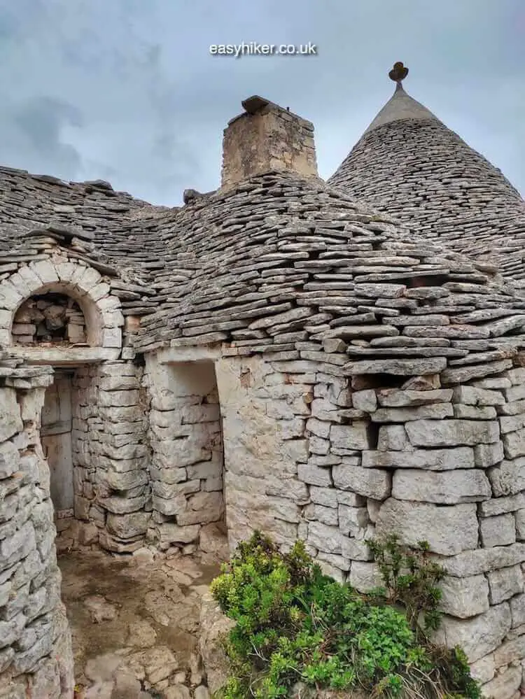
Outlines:
{"type": "Polygon", "coordinates": [[[48,368],[0,362],[0,693],[72,699],[73,656],[38,425],[48,368]]]}

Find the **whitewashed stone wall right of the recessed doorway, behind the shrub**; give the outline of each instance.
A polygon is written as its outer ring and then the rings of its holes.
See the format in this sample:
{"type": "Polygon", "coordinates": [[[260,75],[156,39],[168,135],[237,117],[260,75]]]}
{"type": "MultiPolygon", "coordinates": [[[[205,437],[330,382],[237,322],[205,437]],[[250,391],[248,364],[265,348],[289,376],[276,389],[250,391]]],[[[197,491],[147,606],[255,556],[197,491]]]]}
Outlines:
{"type": "Polygon", "coordinates": [[[449,573],[439,640],[464,647],[486,696],[519,696],[525,369],[381,389],[313,361],[216,367],[230,546],[255,528],[284,547],[301,538],[326,572],[366,591],[380,579],[365,539],[426,539],[449,573]]]}

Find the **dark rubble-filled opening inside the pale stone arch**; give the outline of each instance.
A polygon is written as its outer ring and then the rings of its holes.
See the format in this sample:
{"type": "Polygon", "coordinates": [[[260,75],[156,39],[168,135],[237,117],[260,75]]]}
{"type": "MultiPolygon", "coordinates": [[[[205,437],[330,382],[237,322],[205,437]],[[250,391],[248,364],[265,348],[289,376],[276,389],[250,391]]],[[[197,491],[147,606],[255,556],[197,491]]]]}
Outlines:
{"type": "Polygon", "coordinates": [[[35,295],[23,302],[15,314],[12,334],[17,344],[87,344],[80,306],[59,293],[35,295]]]}

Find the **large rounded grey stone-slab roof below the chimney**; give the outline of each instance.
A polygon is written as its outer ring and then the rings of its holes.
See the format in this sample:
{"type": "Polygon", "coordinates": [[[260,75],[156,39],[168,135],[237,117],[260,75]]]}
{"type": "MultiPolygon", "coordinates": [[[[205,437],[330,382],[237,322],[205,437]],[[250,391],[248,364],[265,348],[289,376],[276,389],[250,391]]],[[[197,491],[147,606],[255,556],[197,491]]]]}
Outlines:
{"type": "Polygon", "coordinates": [[[510,367],[521,344],[501,336],[519,336],[525,301],[491,282],[492,267],[414,239],[321,181],[251,178],[187,206],[164,234],[144,350],[223,342],[348,374],[448,367],[454,383],[510,367]]]}

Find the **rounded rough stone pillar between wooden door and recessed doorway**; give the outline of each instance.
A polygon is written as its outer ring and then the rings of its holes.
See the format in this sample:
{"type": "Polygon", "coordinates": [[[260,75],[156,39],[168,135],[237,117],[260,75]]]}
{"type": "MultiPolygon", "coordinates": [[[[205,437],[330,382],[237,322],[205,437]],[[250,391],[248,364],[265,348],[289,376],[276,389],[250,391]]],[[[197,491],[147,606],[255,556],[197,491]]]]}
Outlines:
{"type": "Polygon", "coordinates": [[[81,537],[109,551],[141,546],[151,518],[143,369],[117,360],[73,377],[74,511],[81,537]],[[93,529],[95,525],[97,530],[93,529]]]}

